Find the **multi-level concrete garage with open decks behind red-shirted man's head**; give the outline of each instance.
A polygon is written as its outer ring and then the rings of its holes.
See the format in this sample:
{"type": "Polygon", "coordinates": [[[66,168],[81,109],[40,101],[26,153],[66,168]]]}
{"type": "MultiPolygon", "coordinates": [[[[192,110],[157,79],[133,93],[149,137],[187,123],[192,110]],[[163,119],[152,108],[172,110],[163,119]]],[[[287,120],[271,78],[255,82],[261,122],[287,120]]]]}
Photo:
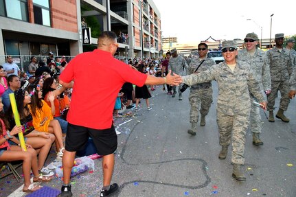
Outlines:
{"type": "MultiPolygon", "coordinates": [[[[117,56],[158,57],[161,50],[161,14],[152,0],[82,0],[91,10],[82,17],[97,16],[101,31],[111,30],[118,38],[117,56]]],[[[93,43],[96,39],[93,38],[93,43]]]]}

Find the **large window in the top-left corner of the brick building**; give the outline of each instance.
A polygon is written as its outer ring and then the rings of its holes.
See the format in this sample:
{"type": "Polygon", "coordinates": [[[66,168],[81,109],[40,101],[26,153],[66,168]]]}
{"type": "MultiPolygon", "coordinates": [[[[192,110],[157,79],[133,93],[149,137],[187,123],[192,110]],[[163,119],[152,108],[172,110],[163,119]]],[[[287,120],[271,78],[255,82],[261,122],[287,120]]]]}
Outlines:
{"type": "Polygon", "coordinates": [[[27,0],[0,0],[0,15],[28,21],[27,0]]]}

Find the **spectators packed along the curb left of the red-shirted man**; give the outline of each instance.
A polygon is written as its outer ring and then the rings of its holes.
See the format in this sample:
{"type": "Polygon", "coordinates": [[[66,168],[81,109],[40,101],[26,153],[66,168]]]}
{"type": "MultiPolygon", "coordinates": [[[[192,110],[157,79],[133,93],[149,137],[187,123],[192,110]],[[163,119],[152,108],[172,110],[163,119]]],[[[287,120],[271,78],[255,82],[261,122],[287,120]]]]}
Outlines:
{"type": "Polygon", "coordinates": [[[58,83],[59,74],[67,67],[65,56],[30,59],[29,70],[21,72],[11,56],[0,65],[0,157],[1,161],[23,161],[23,192],[40,189],[33,182],[50,181],[54,172],[45,167],[45,161],[56,144],[56,159],[65,151],[62,133],[67,132],[66,116],[71,102],[71,89],[58,83]],[[21,126],[16,126],[10,93],[14,94],[21,126]],[[23,132],[27,152],[18,146],[18,133],[23,132]],[[7,150],[14,150],[8,152],[7,150]]]}

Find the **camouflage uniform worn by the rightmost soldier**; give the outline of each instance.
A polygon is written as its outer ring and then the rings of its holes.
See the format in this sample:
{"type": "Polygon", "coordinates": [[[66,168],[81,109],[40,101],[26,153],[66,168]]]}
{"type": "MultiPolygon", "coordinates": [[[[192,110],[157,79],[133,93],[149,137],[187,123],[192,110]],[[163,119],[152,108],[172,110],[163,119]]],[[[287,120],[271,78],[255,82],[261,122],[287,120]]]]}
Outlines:
{"type": "Polygon", "coordinates": [[[293,60],[285,48],[282,48],[281,52],[277,47],[273,47],[267,51],[266,56],[267,64],[271,70],[271,93],[267,96],[267,110],[274,110],[275,97],[277,91],[280,91],[282,96],[280,108],[286,111],[290,102],[288,93],[290,91],[289,80],[293,73],[293,60]]]}

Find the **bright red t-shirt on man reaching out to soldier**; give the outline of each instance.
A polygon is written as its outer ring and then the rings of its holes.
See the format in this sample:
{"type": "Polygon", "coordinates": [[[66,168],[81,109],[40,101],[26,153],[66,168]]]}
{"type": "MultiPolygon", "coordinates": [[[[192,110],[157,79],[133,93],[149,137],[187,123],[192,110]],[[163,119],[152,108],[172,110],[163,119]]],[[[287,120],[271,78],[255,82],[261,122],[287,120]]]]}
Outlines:
{"type": "Polygon", "coordinates": [[[143,86],[147,76],[95,49],[73,58],[60,74],[62,82],[74,80],[69,123],[87,128],[111,128],[119,90],[125,82],[143,86]]]}

